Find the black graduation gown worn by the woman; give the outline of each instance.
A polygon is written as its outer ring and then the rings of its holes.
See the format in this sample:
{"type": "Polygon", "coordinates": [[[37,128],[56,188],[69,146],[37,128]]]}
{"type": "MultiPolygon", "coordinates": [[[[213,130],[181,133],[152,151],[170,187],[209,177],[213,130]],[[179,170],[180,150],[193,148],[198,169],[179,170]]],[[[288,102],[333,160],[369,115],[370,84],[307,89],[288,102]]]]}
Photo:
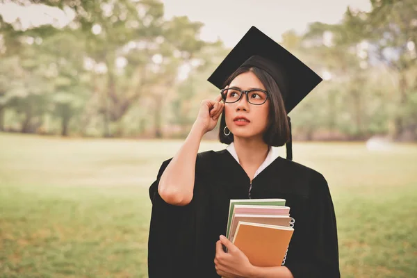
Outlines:
{"type": "MultiPolygon", "coordinates": [[[[215,243],[226,234],[229,200],[249,198],[250,178],[226,149],[199,153],[193,199],[173,206],[158,195],[171,159],[149,188],[149,277],[219,277],[215,243]]],[[[252,180],[251,198],[282,198],[291,208],[295,224],[285,265],[295,278],[340,277],[334,206],[322,174],[278,157],[252,180]]]]}

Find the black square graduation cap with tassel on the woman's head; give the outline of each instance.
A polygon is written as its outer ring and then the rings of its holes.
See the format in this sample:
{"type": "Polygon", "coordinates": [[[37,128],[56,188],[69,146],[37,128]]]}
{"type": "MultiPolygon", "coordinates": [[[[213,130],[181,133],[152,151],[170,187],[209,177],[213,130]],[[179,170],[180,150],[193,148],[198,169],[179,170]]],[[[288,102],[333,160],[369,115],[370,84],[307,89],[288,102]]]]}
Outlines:
{"type": "MultiPolygon", "coordinates": [[[[221,90],[229,76],[241,66],[258,67],[275,79],[284,99],[287,115],[322,81],[316,72],[255,26],[240,39],[208,81],[221,90]]],[[[290,139],[286,142],[286,150],[287,159],[292,160],[290,117],[288,124],[290,139]]]]}

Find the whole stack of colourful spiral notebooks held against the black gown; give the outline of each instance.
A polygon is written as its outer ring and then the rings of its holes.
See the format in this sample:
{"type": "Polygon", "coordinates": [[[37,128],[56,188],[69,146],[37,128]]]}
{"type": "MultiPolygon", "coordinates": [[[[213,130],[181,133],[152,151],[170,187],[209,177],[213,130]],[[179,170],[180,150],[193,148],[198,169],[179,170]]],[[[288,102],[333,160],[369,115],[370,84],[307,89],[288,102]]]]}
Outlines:
{"type": "Polygon", "coordinates": [[[283,264],[293,218],[285,199],[231,199],[227,238],[256,266],[283,264]]]}

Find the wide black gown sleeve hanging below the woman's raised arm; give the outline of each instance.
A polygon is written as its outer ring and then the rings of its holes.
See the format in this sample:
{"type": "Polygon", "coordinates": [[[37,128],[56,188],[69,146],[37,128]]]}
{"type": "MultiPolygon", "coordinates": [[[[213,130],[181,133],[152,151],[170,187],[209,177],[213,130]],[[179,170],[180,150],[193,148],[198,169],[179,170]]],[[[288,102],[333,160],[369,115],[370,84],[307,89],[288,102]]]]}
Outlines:
{"type": "Polygon", "coordinates": [[[153,277],[187,277],[193,265],[194,199],[186,206],[174,206],[158,194],[158,183],[172,158],[164,161],[156,181],[149,187],[152,214],[148,238],[148,275],[153,277]]]}

